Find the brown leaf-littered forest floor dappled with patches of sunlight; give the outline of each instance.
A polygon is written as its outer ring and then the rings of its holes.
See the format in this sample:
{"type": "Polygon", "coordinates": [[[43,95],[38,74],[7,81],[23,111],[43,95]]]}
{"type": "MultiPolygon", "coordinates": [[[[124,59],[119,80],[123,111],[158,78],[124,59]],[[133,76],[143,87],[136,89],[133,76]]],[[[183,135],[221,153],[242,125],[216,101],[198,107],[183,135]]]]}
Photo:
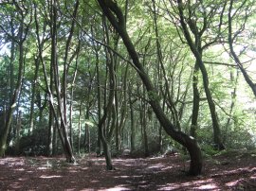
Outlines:
{"type": "Polygon", "coordinates": [[[76,165],[64,158],[0,159],[0,190],[256,190],[256,151],[230,151],[205,160],[200,176],[187,176],[189,161],[165,157],[113,159],[85,156],[76,165]]]}

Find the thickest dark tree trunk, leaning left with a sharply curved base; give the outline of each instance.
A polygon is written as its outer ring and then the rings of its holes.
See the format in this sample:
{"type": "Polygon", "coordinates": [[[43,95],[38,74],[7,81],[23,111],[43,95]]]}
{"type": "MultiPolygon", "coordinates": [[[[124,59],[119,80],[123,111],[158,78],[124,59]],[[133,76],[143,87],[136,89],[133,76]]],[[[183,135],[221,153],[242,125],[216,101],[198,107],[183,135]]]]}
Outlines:
{"type": "Polygon", "coordinates": [[[189,173],[191,175],[200,174],[203,165],[201,150],[198,147],[197,142],[192,137],[188,136],[182,131],[175,130],[174,125],[167,118],[166,114],[163,113],[163,110],[159,104],[159,100],[157,97],[155,97],[157,96],[157,93],[155,91],[154,85],[148,74],[145,72],[141,62],[139,61],[135,45],[132,43],[127,33],[125,27],[125,19],[121,9],[119,9],[119,6],[113,0],[98,0],[98,2],[104,15],[107,16],[112,26],[114,26],[115,29],[119,32],[119,35],[122,38],[122,41],[125,44],[131,59],[133,60],[133,64],[137,69],[137,74],[146,87],[149,96],[149,103],[152,106],[160,124],[176,142],[180,143],[182,146],[188,149],[191,156],[189,173]]]}

